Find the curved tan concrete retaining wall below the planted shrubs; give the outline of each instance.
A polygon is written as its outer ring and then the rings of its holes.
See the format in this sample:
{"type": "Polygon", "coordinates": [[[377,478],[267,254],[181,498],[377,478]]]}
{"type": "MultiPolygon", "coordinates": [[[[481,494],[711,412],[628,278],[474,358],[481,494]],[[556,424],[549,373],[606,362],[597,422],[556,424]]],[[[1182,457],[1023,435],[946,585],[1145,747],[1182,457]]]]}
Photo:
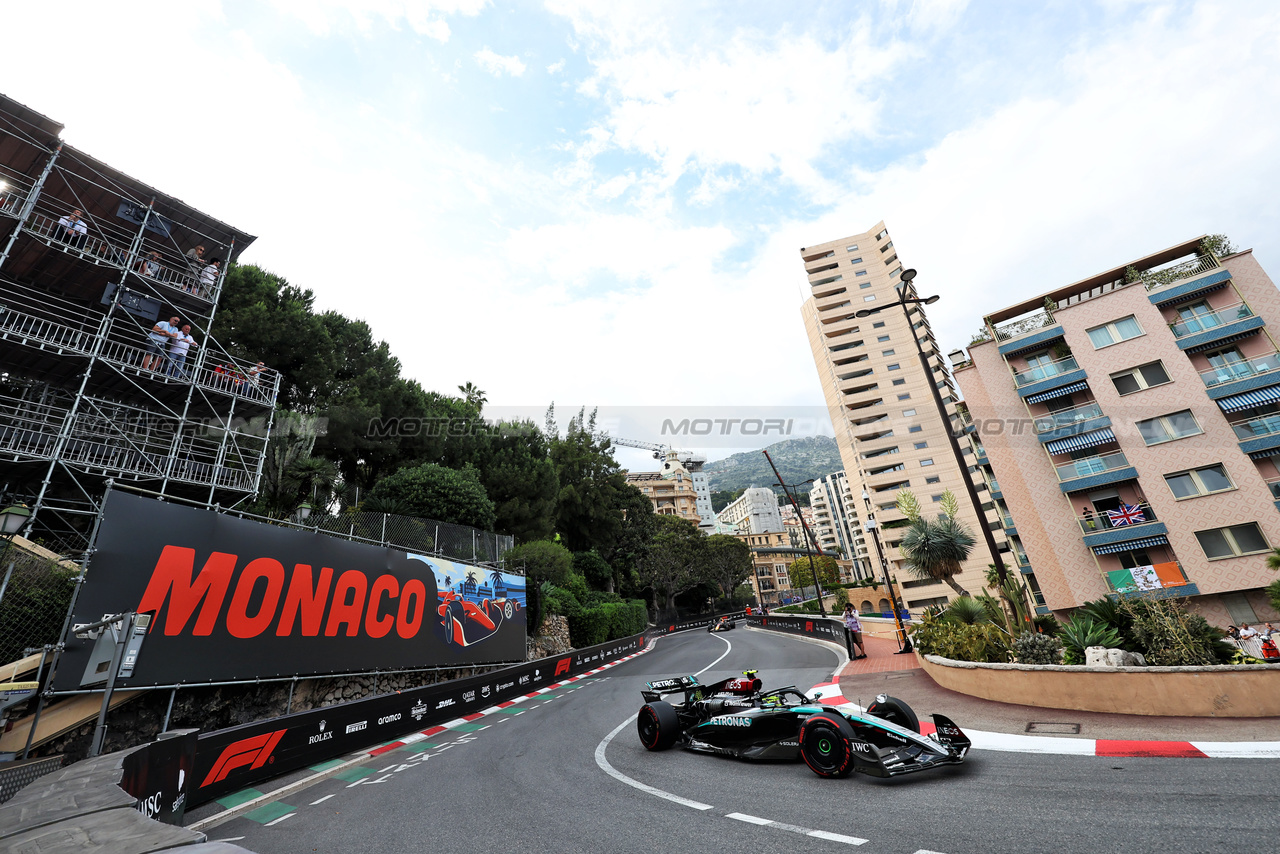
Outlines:
{"type": "Polygon", "coordinates": [[[1001,703],[1115,714],[1280,717],[1280,665],[1068,667],[915,656],[942,688],[1001,703]]]}

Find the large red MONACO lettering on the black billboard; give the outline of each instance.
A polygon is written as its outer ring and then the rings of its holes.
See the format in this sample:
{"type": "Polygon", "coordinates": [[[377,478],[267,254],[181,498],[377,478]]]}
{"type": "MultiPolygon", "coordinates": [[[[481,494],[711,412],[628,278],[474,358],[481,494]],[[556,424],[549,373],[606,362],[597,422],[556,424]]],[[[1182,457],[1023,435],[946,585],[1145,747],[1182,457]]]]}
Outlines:
{"type": "Polygon", "coordinates": [[[151,627],[164,620],[164,634],[180,635],[192,617],[192,635],[212,634],[219,620],[234,638],[257,638],[274,626],[285,638],[401,638],[417,635],[426,611],[426,585],[410,579],[402,585],[393,575],[372,581],[360,570],[347,570],[334,580],[333,568],[319,572],[297,563],[292,572],[270,557],[250,561],[237,574],[239,558],[214,552],[196,574],[196,551],[165,545],[142,594],[138,612],[156,613],[151,627]],[[260,598],[255,592],[262,590],[260,598]],[[253,613],[251,603],[257,602],[253,613]],[[328,613],[328,617],[325,616],[328,613]]]}

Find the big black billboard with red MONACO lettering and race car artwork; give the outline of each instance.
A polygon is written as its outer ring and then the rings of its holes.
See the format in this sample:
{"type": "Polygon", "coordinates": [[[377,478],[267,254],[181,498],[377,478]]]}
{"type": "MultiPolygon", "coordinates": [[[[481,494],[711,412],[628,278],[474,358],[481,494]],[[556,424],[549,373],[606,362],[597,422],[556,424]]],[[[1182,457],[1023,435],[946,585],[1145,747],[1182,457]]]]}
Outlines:
{"type": "MultiPolygon", "coordinates": [[[[124,611],[154,618],[119,688],[525,657],[522,576],[111,492],[73,622],[124,611]]],[[[55,690],[92,649],[67,639],[55,690]]]]}

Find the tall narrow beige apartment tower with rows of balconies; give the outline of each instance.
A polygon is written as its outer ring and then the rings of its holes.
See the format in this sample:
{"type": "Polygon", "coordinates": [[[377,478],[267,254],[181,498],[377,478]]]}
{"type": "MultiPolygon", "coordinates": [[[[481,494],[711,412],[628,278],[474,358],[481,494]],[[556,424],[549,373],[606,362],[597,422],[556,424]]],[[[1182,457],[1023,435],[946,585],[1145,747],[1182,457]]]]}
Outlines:
{"type": "MultiPolygon", "coordinates": [[[[925,513],[940,512],[938,502],[947,489],[960,501],[959,520],[977,545],[956,580],[977,593],[992,562],[982,528],[998,528],[998,522],[969,499],[965,479],[975,472],[973,451],[965,449],[966,465],[961,466],[948,438],[948,430],[959,428],[956,391],[923,307],[910,305],[904,311],[899,302],[901,288],[910,297],[915,291],[914,283],[902,284],[904,265],[888,229],[877,223],[861,234],[804,247],[800,260],[810,292],[801,314],[850,493],[859,502],[864,525],[868,515],[879,525],[884,558],[901,584],[906,607],[942,604],[954,592],[902,568],[897,547],[908,522],[895,502],[904,489],[915,494],[925,513]],[[872,314],[858,318],[863,310],[872,314]],[[913,338],[923,346],[929,371],[920,365],[913,338]],[[946,416],[937,408],[931,384],[942,394],[946,416]]],[[[996,536],[1004,540],[1001,534],[996,536]]],[[[874,542],[868,545],[879,575],[874,542]]],[[[1001,551],[1007,548],[1000,543],[1001,551]]]]}

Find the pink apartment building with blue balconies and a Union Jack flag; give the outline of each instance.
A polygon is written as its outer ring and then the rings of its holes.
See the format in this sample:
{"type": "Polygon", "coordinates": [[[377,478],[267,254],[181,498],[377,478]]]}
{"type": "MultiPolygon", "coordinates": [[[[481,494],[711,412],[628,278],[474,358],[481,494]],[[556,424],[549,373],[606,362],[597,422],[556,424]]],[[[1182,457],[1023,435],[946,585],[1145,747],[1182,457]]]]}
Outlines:
{"type": "Polygon", "coordinates": [[[1252,251],[1197,238],[984,320],[954,371],[1039,609],[1146,593],[1276,620],[1280,291],[1252,251]]]}

